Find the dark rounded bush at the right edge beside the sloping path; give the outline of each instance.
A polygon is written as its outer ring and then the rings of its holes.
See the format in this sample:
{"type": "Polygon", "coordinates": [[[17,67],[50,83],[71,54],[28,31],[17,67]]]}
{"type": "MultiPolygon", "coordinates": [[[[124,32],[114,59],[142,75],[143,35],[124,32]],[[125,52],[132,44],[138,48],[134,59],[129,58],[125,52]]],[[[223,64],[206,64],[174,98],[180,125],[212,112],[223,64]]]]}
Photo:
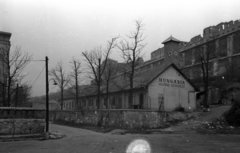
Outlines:
{"type": "Polygon", "coordinates": [[[240,126],[240,100],[236,100],[224,116],[229,125],[240,126]]]}

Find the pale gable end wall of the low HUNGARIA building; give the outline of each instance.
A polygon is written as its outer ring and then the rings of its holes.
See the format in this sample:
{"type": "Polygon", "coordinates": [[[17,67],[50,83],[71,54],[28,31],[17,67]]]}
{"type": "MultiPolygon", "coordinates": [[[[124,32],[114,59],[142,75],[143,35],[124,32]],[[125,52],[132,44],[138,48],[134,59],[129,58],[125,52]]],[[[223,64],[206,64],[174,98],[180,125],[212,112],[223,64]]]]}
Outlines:
{"type": "Polygon", "coordinates": [[[194,91],[193,86],[173,67],[169,67],[148,86],[148,96],[151,101],[149,101],[149,103],[151,103],[151,109],[159,109],[159,94],[164,95],[164,110],[166,111],[172,111],[179,106],[184,107],[185,109],[191,106],[192,109],[195,109],[196,98],[193,96],[195,94],[191,95],[191,98],[189,98],[190,91],[194,91]],[[172,87],[171,83],[169,83],[170,87],[159,85],[159,78],[182,80],[185,82],[185,85],[184,87],[172,87]]]}

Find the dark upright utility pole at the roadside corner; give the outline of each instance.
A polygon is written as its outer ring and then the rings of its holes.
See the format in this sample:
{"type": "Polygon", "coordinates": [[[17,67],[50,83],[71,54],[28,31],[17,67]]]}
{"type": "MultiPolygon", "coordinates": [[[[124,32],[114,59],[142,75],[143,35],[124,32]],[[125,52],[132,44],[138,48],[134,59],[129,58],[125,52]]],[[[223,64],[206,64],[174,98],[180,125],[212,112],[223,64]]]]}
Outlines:
{"type": "Polygon", "coordinates": [[[49,131],[49,83],[48,83],[48,57],[45,57],[46,62],[46,132],[49,131]]]}

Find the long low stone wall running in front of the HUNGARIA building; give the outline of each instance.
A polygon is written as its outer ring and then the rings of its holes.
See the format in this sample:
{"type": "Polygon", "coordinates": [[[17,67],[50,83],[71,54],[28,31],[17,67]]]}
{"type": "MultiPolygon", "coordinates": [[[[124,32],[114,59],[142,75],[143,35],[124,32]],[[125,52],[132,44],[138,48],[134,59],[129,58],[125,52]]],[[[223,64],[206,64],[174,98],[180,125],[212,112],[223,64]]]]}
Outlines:
{"type": "Polygon", "coordinates": [[[153,110],[50,111],[51,121],[115,128],[160,128],[167,122],[184,120],[188,113],[153,110]]]}

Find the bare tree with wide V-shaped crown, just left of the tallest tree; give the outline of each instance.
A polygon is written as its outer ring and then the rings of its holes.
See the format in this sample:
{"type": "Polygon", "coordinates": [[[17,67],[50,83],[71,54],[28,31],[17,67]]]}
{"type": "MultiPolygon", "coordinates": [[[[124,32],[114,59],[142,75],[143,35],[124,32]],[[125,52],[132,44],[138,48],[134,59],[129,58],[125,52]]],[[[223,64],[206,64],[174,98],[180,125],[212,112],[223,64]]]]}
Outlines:
{"type": "Polygon", "coordinates": [[[82,52],[83,57],[86,60],[88,68],[91,72],[90,78],[93,79],[94,84],[97,86],[97,108],[100,108],[100,96],[101,96],[101,84],[102,75],[107,65],[109,54],[112,49],[116,47],[116,40],[118,37],[112,38],[108,41],[107,48],[105,50],[102,47],[94,48],[92,51],[82,52]],[[103,62],[104,61],[104,62],[103,62]]]}

